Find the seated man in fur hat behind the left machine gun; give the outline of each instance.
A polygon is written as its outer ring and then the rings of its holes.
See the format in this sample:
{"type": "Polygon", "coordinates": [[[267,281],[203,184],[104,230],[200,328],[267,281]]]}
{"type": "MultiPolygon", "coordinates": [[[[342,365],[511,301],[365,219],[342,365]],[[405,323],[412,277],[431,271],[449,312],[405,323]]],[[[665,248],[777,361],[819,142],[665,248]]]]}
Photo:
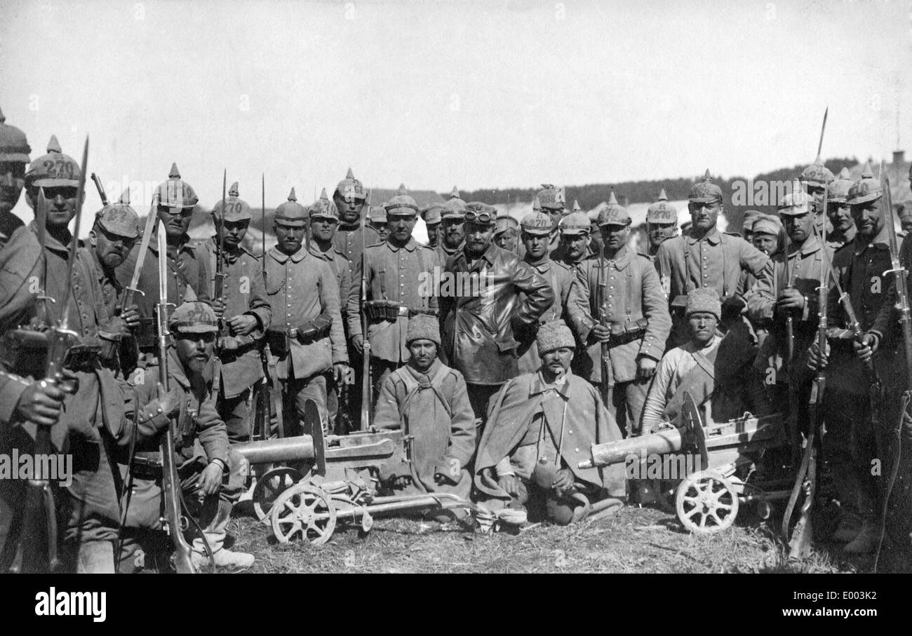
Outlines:
{"type": "Polygon", "coordinates": [[[476,422],[465,380],[437,359],[435,316],[409,320],[406,344],[409,362],[384,380],[374,426],[401,428],[413,436],[411,462],[405,472],[381,478],[397,494],[449,492],[468,498],[476,422]]]}

